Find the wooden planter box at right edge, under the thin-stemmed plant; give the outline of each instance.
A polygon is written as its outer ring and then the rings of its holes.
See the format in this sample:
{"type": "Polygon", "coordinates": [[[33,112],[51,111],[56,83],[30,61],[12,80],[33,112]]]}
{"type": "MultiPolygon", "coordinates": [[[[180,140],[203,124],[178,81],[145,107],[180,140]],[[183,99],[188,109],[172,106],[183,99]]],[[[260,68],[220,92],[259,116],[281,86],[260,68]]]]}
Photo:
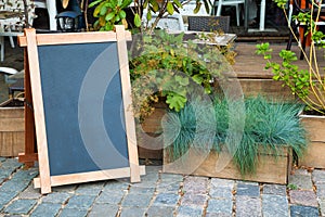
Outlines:
{"type": "Polygon", "coordinates": [[[309,145],[299,166],[325,168],[325,116],[300,115],[309,135],[309,145]]]}

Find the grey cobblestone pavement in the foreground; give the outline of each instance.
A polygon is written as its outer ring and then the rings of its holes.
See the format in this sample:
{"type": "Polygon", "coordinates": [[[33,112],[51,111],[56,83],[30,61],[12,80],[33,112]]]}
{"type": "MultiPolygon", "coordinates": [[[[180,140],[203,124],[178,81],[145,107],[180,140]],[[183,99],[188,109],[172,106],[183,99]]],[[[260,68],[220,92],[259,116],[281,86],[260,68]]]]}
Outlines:
{"type": "Polygon", "coordinates": [[[37,168],[0,157],[0,216],[325,216],[325,170],[297,169],[291,189],[281,184],[160,173],[146,166],[139,183],[129,179],[32,188],[37,168]]]}

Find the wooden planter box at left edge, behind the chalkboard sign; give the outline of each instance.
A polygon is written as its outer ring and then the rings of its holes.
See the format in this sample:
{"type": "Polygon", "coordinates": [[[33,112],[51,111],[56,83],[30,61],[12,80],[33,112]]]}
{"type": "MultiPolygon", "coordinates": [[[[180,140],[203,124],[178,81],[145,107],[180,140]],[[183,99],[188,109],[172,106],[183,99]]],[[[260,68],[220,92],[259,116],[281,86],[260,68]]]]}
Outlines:
{"type": "Polygon", "coordinates": [[[24,150],[24,107],[0,107],[0,156],[18,156],[24,150]]]}

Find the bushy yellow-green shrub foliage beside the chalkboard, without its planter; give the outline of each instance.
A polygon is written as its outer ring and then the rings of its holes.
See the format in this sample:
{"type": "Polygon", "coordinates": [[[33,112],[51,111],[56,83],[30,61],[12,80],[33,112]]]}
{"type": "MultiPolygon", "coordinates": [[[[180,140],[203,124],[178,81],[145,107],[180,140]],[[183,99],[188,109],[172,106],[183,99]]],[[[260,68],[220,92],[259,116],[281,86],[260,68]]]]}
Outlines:
{"type": "Polygon", "coordinates": [[[231,72],[218,48],[199,47],[191,40],[184,43],[183,37],[157,30],[134,40],[136,54],[129,65],[135,117],[143,119],[151,114],[159,97],[179,112],[198,86],[209,94],[211,81],[222,77],[221,72],[231,72]]]}

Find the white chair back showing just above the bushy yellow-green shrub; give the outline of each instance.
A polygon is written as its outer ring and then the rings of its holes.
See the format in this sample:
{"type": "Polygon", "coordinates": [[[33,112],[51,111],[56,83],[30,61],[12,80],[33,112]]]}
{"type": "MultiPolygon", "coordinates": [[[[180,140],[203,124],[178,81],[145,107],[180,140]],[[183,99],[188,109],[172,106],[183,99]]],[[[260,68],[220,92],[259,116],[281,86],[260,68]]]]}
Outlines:
{"type": "MultiPolygon", "coordinates": [[[[157,14],[152,14],[152,20],[148,22],[148,27],[152,26],[154,21],[157,18],[157,14]]],[[[143,23],[146,25],[146,12],[143,13],[143,23]]],[[[174,13],[172,15],[164,16],[159,20],[157,28],[167,29],[170,31],[185,31],[184,22],[182,15],[174,13]]]]}

